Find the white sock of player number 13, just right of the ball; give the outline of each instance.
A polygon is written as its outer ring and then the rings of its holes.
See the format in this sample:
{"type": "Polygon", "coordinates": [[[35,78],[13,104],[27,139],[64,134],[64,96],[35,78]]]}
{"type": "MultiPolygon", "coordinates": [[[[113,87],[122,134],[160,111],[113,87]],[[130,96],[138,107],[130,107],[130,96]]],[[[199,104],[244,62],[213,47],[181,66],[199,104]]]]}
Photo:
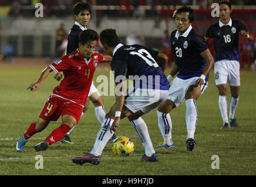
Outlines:
{"type": "Polygon", "coordinates": [[[142,117],[139,117],[136,120],[130,121],[136,130],[140,141],[142,141],[142,145],[145,148],[145,154],[148,157],[151,157],[152,154],[155,153],[153,144],[151,143],[150,137],[149,137],[149,131],[147,130],[147,125],[142,119],[142,117]]]}

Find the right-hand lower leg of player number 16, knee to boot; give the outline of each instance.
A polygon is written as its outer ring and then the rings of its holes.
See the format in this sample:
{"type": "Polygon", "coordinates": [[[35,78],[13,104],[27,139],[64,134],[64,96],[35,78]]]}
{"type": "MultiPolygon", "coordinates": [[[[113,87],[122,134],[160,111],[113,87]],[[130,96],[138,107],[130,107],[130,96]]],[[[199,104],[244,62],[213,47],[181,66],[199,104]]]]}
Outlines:
{"type": "Polygon", "coordinates": [[[237,120],[234,118],[235,110],[238,106],[240,86],[230,86],[231,98],[230,98],[230,111],[229,122],[231,127],[238,127],[237,120]]]}

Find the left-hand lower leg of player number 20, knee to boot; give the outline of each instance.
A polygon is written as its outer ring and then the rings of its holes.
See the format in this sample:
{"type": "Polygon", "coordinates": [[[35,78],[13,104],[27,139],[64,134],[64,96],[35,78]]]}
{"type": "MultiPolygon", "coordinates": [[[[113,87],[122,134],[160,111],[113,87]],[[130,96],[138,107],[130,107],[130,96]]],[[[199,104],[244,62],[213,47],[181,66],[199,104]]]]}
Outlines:
{"type": "Polygon", "coordinates": [[[159,145],[154,148],[174,148],[174,143],[171,139],[171,116],[169,114],[174,108],[176,108],[174,102],[167,99],[157,109],[158,126],[164,141],[160,142],[159,145]]]}

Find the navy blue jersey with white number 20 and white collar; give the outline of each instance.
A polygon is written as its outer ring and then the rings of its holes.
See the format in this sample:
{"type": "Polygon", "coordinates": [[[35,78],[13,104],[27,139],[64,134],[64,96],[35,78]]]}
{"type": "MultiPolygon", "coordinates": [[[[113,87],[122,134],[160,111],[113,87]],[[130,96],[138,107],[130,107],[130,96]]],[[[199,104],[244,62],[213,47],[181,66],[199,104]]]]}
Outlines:
{"type": "Polygon", "coordinates": [[[171,46],[178,71],[177,77],[181,79],[200,77],[206,65],[206,60],[200,53],[208,49],[204,38],[190,26],[181,36],[177,30],[171,33],[171,46]]]}

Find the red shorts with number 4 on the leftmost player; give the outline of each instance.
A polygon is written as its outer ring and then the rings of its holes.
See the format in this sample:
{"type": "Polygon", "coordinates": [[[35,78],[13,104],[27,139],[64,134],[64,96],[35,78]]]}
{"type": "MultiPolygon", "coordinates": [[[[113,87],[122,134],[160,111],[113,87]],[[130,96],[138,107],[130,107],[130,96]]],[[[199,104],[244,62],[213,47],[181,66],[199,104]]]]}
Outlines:
{"type": "Polygon", "coordinates": [[[60,115],[70,115],[75,117],[76,123],[78,123],[82,115],[82,109],[83,106],[78,103],[51,95],[46,101],[39,117],[49,122],[58,120],[60,115]]]}

